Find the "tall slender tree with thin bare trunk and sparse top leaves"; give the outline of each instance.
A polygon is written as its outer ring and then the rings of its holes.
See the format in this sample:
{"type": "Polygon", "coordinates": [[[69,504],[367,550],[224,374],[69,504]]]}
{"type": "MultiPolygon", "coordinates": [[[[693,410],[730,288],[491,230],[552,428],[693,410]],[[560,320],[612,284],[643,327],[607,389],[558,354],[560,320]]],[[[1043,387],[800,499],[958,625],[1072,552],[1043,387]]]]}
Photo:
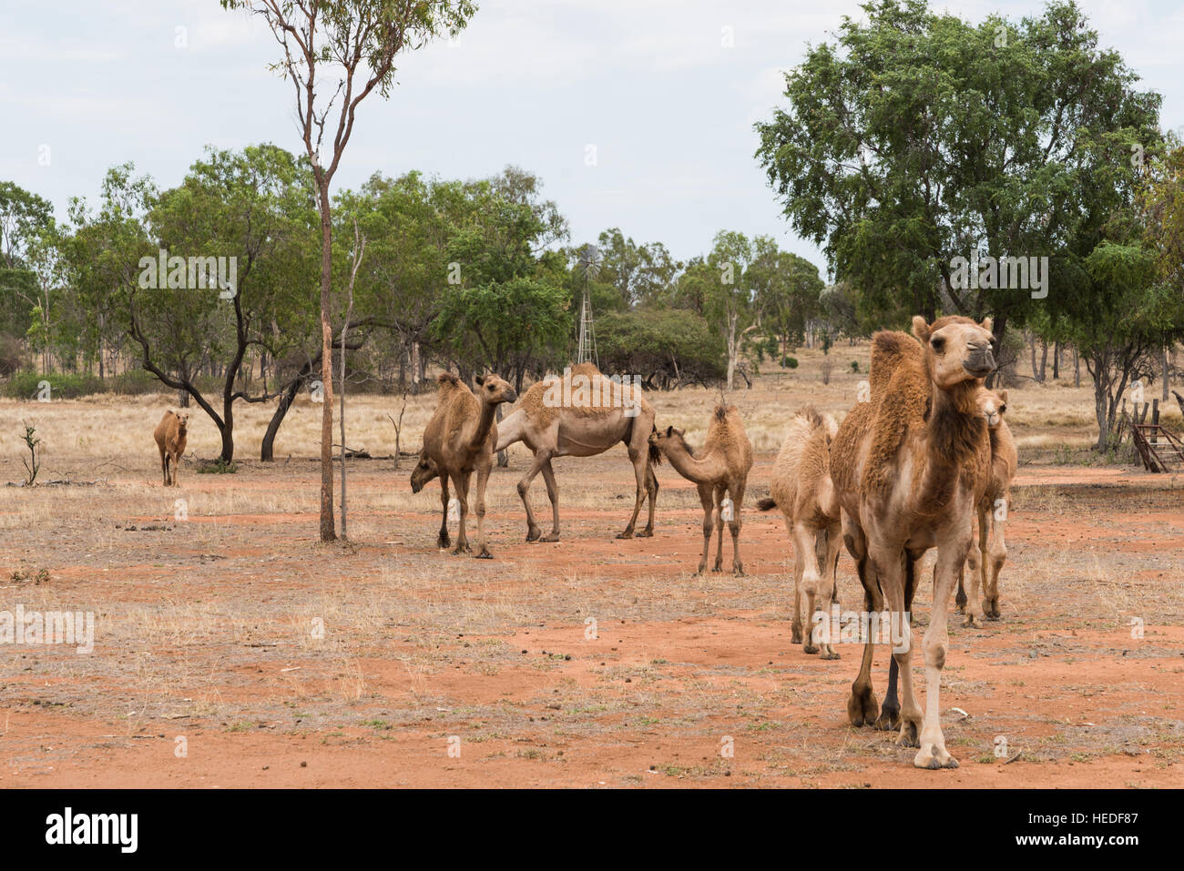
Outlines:
{"type": "Polygon", "coordinates": [[[471,0],[221,0],[262,15],[283,58],[272,65],[292,84],[296,118],[313,162],[321,213],[321,541],[333,517],[333,220],[329,186],[354,130],[358,107],[375,89],[390,96],[394,59],[443,34],[455,37],[476,12],[471,0]],[[332,155],[321,154],[326,127],[332,155]]]}

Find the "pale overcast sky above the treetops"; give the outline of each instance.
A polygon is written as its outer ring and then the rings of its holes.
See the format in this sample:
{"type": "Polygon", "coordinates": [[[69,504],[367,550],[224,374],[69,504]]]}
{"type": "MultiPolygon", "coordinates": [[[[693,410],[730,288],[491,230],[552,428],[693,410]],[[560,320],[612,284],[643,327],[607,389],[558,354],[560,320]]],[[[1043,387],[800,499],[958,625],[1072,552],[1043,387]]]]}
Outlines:
{"type": "MultiPolygon", "coordinates": [[[[1080,5],[1164,95],[1164,125],[1184,127],[1184,5],[1080,5]]],[[[972,21],[1042,8],[934,6],[972,21]]],[[[781,218],[752,125],[780,102],[781,70],[831,40],[844,13],[862,15],[847,0],[484,0],[457,45],[403,57],[390,101],[362,104],[336,186],[375,170],[475,178],[516,163],[542,178],[575,243],[619,226],[682,259],[728,228],[772,234],[824,267],[781,218]]],[[[206,143],[300,153],[291,86],[266,70],[277,58],[262,19],[217,0],[2,0],[0,179],[64,218],[71,195],[97,198],[115,163],[173,186],[206,143]]]]}

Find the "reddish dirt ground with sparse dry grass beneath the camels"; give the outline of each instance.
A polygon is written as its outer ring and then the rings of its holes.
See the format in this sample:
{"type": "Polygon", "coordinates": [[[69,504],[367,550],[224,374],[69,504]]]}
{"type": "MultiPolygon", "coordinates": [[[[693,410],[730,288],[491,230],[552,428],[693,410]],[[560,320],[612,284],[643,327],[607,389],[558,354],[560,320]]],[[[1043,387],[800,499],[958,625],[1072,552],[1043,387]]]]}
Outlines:
{"type": "MultiPolygon", "coordinates": [[[[929,773],[893,735],[848,725],[857,646],[819,662],[790,645],[790,544],[779,520],[751,509],[770,463],[753,472],[742,579],[690,575],[697,501],[665,466],[657,536],[613,538],[632,499],[616,451],[559,464],[558,544],[522,541],[522,456],[498,470],[493,561],[436,550],[438,491],[412,496],[410,469],[388,462],[352,466],[349,548],[315,542],[309,462],[185,469],[180,491],[140,470],[88,488],[6,489],[0,607],[94,611],[96,637],[86,656],[2,650],[0,782],[1182,782],[1180,482],[1022,470],[1003,620],[953,624],[942,725],[961,767],[929,773]],[[39,568],[50,573],[40,585],[9,578],[39,568]]],[[[546,511],[541,486],[535,504],[546,511]]],[[[844,605],[858,607],[847,557],[839,573],[844,605]]],[[[922,626],[931,586],[915,608],[922,626]]],[[[882,690],[886,654],[876,663],[882,690]]]]}

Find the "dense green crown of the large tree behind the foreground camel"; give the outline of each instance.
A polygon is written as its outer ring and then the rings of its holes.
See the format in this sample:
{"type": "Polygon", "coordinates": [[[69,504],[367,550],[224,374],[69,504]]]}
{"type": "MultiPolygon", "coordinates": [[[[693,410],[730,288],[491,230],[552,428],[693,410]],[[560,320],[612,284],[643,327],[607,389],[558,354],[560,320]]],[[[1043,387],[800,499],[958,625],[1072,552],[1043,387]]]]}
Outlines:
{"type": "MultiPolygon", "coordinates": [[[[794,230],[858,289],[858,321],[944,308],[1023,321],[1017,290],[952,289],[950,262],[1086,256],[1130,195],[1131,147],[1159,142],[1160,97],[1099,47],[1073,2],[978,25],[924,0],[863,6],[786,76],[757,156],[794,230]],[[941,290],[944,288],[944,291],[941,290]],[[942,296],[945,293],[945,296],[942,296]]],[[[1070,292],[1054,276],[1050,293],[1070,292]]]]}

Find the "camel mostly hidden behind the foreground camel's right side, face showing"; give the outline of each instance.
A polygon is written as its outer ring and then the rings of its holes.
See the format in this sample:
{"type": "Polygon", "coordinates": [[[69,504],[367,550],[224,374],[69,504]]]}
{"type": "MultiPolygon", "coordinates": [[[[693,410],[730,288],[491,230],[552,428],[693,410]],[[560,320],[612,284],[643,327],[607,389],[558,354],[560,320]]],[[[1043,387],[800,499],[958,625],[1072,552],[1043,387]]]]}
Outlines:
{"type": "MultiPolygon", "coordinates": [[[[1019,466],[1015,439],[1003,413],[1008,411],[1008,392],[989,391],[985,387],[978,392],[978,407],[986,420],[991,434],[991,480],[986,492],[978,503],[978,549],[979,576],[971,575],[970,598],[978,598],[978,582],[983,585],[983,611],[990,620],[999,619],[999,572],[1008,559],[1008,544],[1004,541],[1004,528],[1008,523],[1008,511],[1011,510],[1011,482],[1019,466]]],[[[959,612],[966,613],[966,626],[974,626],[974,608],[967,608],[966,591],[963,587],[964,570],[958,570],[958,595],[954,602],[959,612]]]]}

